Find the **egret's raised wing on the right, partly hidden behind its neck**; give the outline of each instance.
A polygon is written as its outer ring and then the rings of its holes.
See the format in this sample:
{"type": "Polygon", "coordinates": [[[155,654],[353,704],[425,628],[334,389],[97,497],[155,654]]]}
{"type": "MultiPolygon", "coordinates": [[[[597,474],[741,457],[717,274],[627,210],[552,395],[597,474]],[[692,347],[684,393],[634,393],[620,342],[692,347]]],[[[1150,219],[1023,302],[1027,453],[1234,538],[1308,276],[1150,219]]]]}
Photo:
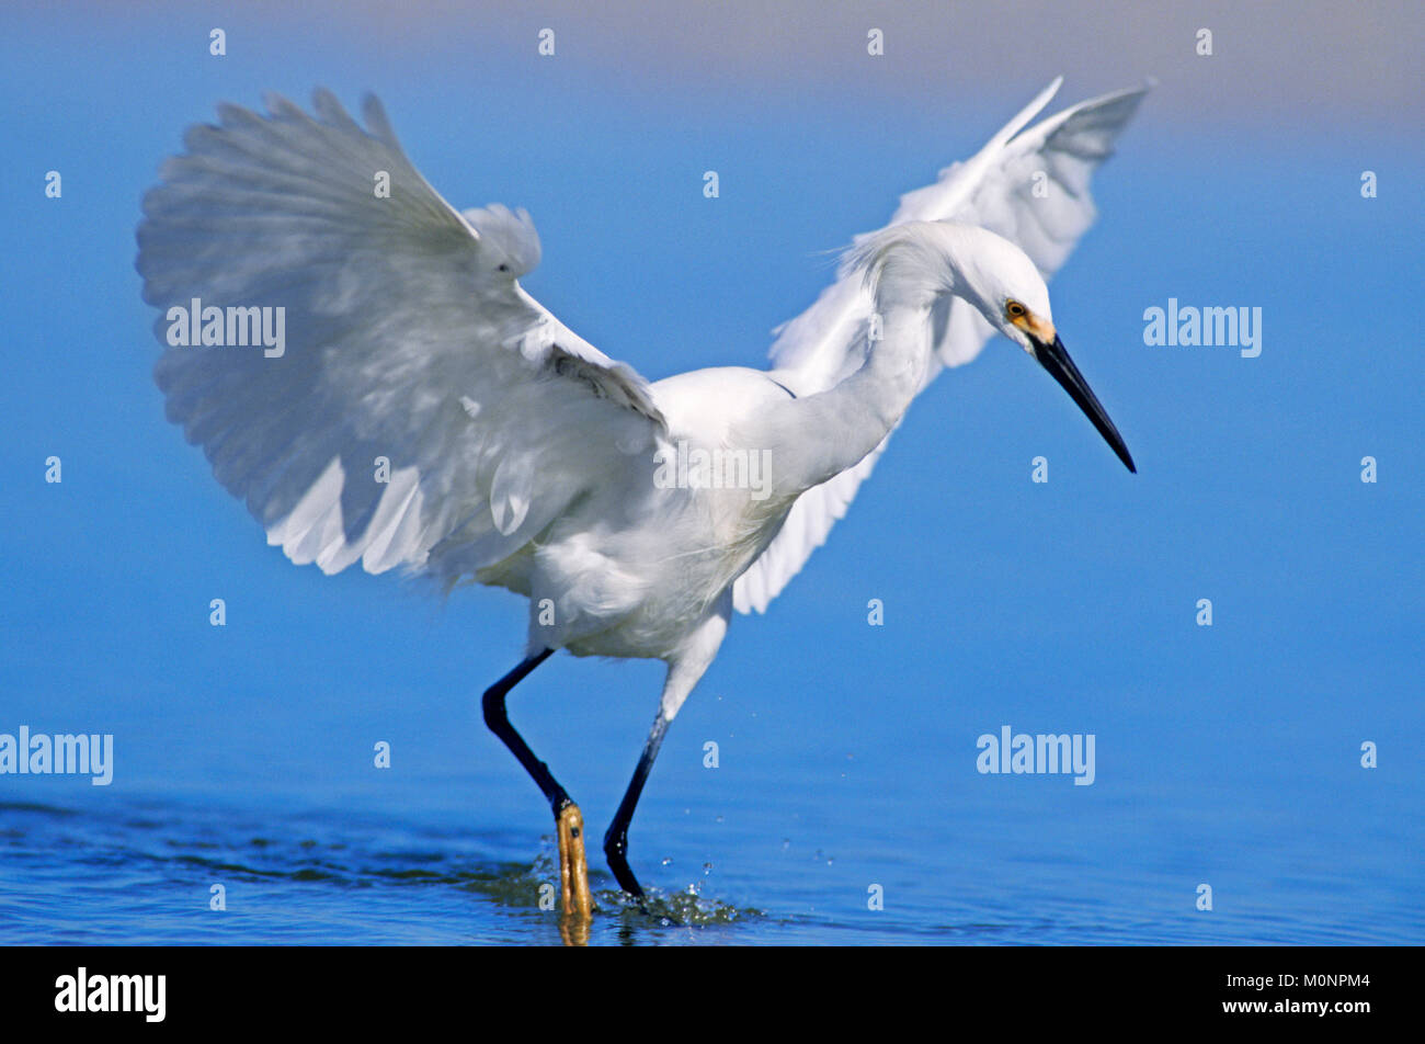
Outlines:
{"type": "MultiPolygon", "coordinates": [[[[1059,90],[1062,77],[1010,120],[973,158],[940,171],[939,180],[901,197],[889,225],[902,221],[960,221],[989,228],[1019,247],[1047,281],[1097,215],[1089,193],[1094,168],[1147,93],[1147,86],[1083,101],[1027,127],[1059,90]]],[[[862,237],[858,237],[858,241],[862,237]]],[[[834,387],[865,359],[869,291],[844,277],[778,331],[772,377],[798,395],[834,387]]],[[[942,367],[979,355],[993,334],[963,301],[946,298],[933,315],[935,358],[942,367]]],[[[889,439],[889,436],[888,436],[889,439]]],[[[855,468],[804,492],[781,531],[732,588],[738,612],[764,612],[846,512],[861,482],[885,449],[882,442],[855,468]]]]}

